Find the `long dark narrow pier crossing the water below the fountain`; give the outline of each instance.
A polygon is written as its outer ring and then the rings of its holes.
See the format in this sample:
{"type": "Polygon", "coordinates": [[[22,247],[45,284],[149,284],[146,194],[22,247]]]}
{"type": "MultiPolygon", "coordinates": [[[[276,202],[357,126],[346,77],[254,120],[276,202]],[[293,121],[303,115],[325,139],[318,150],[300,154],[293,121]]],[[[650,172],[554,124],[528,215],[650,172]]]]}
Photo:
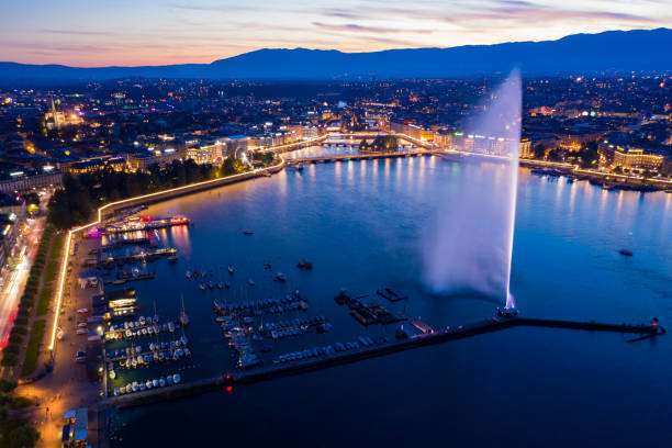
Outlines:
{"type": "Polygon", "coordinates": [[[645,338],[663,335],[665,333],[665,329],[662,326],[658,325],[657,322],[632,325],[625,323],[608,324],[598,322],[556,321],[527,317],[492,317],[485,321],[460,325],[455,328],[448,327],[440,331],[434,331],[433,333],[412,336],[407,339],[391,340],[382,344],[374,344],[369,347],[361,347],[354,350],[340,351],[333,355],[324,355],[316,358],[296,360],[277,366],[271,365],[268,367],[250,369],[248,371],[236,371],[227,373],[225,376],[182,383],[179,385],[153,389],[127,395],[108,397],[105,400],[105,403],[110,406],[127,407],[161,400],[176,400],[181,396],[192,396],[195,393],[221,390],[223,388],[231,388],[234,385],[250,384],[258,381],[272,380],[275,378],[327,369],[331,367],[357,362],[360,360],[385,356],[397,351],[404,351],[423,346],[447,343],[450,340],[462,339],[514,327],[546,327],[562,329],[582,329],[590,332],[613,332],[643,335],[645,338]]]}

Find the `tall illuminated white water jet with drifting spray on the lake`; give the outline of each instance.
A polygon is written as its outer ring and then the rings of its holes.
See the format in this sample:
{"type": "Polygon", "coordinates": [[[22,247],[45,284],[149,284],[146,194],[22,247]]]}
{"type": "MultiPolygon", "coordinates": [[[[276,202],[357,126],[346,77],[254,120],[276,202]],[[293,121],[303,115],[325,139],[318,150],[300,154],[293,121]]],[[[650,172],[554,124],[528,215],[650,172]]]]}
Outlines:
{"type": "Polygon", "coordinates": [[[425,245],[425,281],[438,293],[475,292],[515,309],[511,268],[518,182],[522,90],[518,70],[482,104],[453,149],[481,169],[441,193],[425,245]]]}

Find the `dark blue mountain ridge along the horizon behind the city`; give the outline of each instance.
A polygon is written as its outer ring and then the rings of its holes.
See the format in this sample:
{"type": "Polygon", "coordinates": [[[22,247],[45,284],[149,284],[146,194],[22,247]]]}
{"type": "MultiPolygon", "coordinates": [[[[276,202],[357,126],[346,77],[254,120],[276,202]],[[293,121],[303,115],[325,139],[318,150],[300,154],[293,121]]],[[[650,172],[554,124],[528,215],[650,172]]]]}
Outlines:
{"type": "Polygon", "coordinates": [[[558,41],[464,45],[451,48],[343,53],[265,48],[212,64],[78,68],[0,63],[0,81],[41,83],[127,77],[249,80],[455,78],[504,72],[526,76],[672,70],[672,30],[607,31],[558,41]]]}

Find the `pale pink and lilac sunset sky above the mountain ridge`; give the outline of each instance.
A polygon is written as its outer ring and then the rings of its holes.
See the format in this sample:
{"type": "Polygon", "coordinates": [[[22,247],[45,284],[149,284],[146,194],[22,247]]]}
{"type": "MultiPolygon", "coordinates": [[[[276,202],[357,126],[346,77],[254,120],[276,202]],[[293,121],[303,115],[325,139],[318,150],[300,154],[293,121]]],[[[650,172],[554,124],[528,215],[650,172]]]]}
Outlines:
{"type": "Polygon", "coordinates": [[[79,67],[210,63],[266,47],[341,52],[546,41],[672,26],[662,1],[489,0],[440,4],[150,0],[5,5],[0,60],[79,67]]]}

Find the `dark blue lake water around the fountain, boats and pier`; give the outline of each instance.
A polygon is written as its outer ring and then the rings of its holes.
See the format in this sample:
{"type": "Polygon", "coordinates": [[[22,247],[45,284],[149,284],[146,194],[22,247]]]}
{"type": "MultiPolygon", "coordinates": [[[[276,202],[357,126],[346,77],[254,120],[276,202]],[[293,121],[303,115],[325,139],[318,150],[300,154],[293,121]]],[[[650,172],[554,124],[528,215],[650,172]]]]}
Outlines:
{"type": "MultiPolygon", "coordinates": [[[[496,301],[438,296],[423,285],[423,245],[435,211],[495,168],[437,157],[307,165],[156,204],[190,227],[159,236],[180,260],[150,266],[134,284],[139,303],[191,318],[189,360],[130,372],[219,376],[232,357],[212,313],[235,302],[300,289],[307,312],[334,325],[273,344],[273,354],[393,338],[396,326],[362,327],[333,298],[341,287],[435,328],[493,315],[496,301]],[[244,235],[243,231],[254,231],[244,235]],[[295,264],[313,262],[312,271],[295,264]],[[269,261],[272,270],[262,265],[269,261]],[[236,273],[228,276],[226,266],[236,273]],[[213,270],[231,291],[200,291],[187,269],[213,270]],[[221,269],[223,267],[223,269],[221,269]],[[288,283],[271,280],[282,271],[288,283]],[[247,284],[253,279],[255,285],[247,284]],[[389,304],[377,288],[408,294],[389,304]]],[[[648,322],[672,327],[672,194],[605,191],[522,169],[512,290],[525,316],[648,322]],[[621,248],[635,256],[624,257],[621,248]]],[[[455,210],[455,219],[460,211],[455,210]]],[[[446,254],[450,257],[450,254],[446,254]]],[[[146,314],[153,314],[147,312],[146,314]]],[[[280,316],[269,317],[278,321],[280,316]]],[[[642,446],[672,438],[672,339],[515,328],[355,365],[115,413],[121,446],[642,446]]],[[[268,343],[266,343],[268,344],[268,343]]],[[[122,376],[124,373],[122,372],[122,376]]],[[[154,377],[153,377],[154,376],[154,377]]]]}

